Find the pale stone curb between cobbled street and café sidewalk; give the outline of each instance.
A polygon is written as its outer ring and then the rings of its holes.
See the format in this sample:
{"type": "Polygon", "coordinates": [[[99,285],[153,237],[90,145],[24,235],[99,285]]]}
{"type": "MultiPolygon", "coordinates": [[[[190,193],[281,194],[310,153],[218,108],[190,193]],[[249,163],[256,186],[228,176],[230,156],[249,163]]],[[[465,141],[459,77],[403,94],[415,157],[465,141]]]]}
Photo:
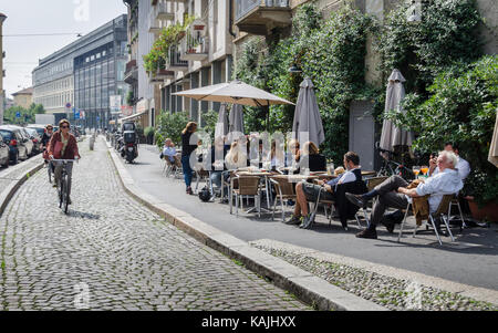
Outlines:
{"type": "MultiPolygon", "coordinates": [[[[103,138],[101,138],[103,139],[103,138]]],[[[105,142],[105,139],[104,139],[105,142]]],[[[143,204],[166,221],[170,222],[201,243],[242,262],[247,269],[270,280],[277,287],[292,292],[307,304],[313,304],[318,310],[342,311],[386,311],[387,309],[351,294],[323,279],[297,268],[279,258],[251,247],[229,233],[218,230],[186,211],[160,202],[159,199],[139,189],[133,181],[116,153],[105,142],[110,158],[120,176],[125,191],[138,202],[143,204]]]]}

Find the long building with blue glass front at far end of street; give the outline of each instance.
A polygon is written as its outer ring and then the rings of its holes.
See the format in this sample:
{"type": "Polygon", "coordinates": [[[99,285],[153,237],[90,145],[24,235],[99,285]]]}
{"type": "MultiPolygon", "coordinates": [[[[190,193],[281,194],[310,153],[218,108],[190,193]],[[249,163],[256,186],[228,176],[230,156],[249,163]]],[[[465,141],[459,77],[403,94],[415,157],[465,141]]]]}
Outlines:
{"type": "Polygon", "coordinates": [[[106,127],[117,116],[111,113],[111,96],[118,95],[123,104],[128,91],[126,32],[124,14],[40,60],[33,71],[33,102],[71,119],[79,111],[85,127],[106,127]]]}

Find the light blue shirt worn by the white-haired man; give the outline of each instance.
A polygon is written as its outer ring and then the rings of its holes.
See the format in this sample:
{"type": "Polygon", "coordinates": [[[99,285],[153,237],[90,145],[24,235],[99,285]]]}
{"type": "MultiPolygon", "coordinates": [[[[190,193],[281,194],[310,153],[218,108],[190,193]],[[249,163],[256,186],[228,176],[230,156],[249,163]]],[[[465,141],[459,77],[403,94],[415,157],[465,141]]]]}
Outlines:
{"type": "Polygon", "coordinates": [[[464,187],[460,175],[456,169],[445,169],[443,173],[437,173],[425,183],[419,184],[416,188],[418,196],[430,195],[428,199],[430,214],[435,212],[439,207],[444,195],[453,195],[458,192],[464,187]]]}

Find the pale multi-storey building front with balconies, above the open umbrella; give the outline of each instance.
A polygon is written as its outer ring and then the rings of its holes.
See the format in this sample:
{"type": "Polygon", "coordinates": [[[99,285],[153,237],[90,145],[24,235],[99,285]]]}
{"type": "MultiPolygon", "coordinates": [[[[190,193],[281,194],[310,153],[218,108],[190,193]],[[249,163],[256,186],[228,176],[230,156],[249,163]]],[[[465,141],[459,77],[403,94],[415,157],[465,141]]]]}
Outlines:
{"type": "Polygon", "coordinates": [[[227,82],[231,79],[234,3],[231,0],[125,0],[128,6],[126,82],[133,85],[133,115],[142,125],[154,126],[162,111],[187,112],[203,123],[203,114],[219,103],[198,103],[173,95],[176,92],[227,82]],[[196,20],[187,28],[170,61],[158,73],[147,73],[143,56],[151,52],[163,29],[196,20]],[[135,86],[136,85],[136,86],[135,86]]]}

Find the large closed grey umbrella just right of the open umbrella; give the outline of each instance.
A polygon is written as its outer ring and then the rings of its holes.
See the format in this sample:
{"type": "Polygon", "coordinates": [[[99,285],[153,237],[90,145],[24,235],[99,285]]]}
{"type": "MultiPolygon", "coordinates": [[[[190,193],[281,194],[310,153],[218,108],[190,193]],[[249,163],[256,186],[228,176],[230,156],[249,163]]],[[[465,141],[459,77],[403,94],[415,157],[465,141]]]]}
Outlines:
{"type": "Polygon", "coordinates": [[[293,137],[301,144],[310,141],[320,146],[325,141],[325,134],[314,95],[314,86],[309,77],[304,79],[300,86],[292,126],[293,137]]]}

